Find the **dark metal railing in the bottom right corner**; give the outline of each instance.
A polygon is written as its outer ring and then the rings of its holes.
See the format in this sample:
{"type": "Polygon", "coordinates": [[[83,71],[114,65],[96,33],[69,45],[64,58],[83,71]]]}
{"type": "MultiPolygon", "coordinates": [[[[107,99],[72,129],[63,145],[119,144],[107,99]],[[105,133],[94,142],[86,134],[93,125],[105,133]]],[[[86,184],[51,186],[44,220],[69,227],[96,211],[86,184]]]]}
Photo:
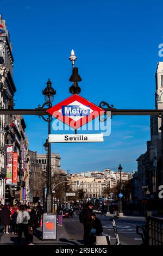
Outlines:
{"type": "Polygon", "coordinates": [[[163,245],[163,218],[147,217],[146,225],[136,226],[136,233],[143,245],[163,245]]]}

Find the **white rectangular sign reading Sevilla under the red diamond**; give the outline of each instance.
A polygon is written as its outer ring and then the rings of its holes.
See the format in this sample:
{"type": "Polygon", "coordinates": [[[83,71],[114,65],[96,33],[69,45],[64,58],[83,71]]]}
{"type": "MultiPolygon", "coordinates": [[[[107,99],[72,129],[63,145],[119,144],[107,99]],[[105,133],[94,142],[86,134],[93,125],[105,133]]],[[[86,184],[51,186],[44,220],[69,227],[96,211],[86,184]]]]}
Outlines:
{"type": "Polygon", "coordinates": [[[50,134],[49,143],[57,142],[103,142],[103,133],[95,134],[50,134]]]}

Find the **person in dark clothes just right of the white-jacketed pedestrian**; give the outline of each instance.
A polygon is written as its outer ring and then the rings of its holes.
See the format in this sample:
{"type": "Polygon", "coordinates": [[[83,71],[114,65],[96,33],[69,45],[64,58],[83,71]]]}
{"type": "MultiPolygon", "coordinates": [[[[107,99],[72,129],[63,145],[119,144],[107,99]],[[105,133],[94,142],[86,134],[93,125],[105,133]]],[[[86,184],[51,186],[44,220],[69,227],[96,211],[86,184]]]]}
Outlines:
{"type": "Polygon", "coordinates": [[[33,231],[34,227],[37,224],[37,218],[36,218],[36,212],[34,209],[30,208],[30,206],[27,206],[27,211],[29,212],[30,220],[28,221],[28,245],[34,245],[33,244],[33,231]]]}

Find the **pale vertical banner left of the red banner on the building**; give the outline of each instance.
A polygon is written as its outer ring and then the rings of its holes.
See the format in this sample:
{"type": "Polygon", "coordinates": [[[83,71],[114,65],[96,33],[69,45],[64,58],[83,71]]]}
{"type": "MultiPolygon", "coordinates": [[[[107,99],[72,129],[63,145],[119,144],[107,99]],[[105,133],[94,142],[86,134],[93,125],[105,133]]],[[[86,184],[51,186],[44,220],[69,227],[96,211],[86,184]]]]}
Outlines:
{"type": "Polygon", "coordinates": [[[7,145],[6,184],[12,184],[12,145],[7,145]]]}

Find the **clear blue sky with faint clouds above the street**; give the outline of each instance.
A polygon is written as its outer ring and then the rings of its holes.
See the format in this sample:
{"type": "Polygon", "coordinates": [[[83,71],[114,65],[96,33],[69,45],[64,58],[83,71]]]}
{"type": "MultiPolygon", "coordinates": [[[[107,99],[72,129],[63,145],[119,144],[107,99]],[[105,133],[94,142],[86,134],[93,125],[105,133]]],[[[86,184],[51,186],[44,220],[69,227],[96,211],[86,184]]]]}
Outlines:
{"type": "MultiPolygon", "coordinates": [[[[14,54],[15,108],[44,102],[51,78],[55,103],[70,96],[68,81],[73,48],[82,77],[81,96],[99,105],[154,108],[155,70],[163,43],[162,1],[21,1],[1,0],[14,54]]],[[[44,153],[47,123],[24,116],[29,148],[44,153]]],[[[61,167],[72,172],[137,169],[137,157],[150,139],[149,117],[113,117],[104,143],[53,144],[61,167]]]]}

